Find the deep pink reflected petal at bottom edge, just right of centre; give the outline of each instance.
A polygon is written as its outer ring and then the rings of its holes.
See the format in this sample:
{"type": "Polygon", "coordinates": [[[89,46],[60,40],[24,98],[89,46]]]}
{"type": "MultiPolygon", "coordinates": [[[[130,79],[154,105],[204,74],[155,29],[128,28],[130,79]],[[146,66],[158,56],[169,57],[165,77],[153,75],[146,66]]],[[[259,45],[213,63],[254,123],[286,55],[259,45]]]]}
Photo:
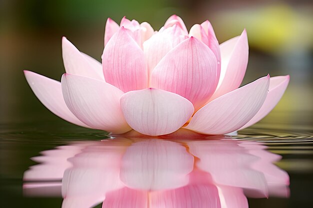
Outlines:
{"type": "Polygon", "coordinates": [[[217,189],[209,184],[152,192],[149,197],[149,208],[220,208],[217,189]]]}

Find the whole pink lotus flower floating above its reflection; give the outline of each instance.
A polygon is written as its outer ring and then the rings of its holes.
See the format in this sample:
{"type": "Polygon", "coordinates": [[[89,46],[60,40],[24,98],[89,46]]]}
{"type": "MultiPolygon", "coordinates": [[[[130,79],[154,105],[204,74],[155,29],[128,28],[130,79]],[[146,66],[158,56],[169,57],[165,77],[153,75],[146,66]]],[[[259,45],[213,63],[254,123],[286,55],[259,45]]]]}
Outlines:
{"type": "Polygon", "coordinates": [[[179,128],[226,134],[267,115],[289,76],[261,77],[240,88],[246,31],[220,45],[209,21],[189,33],[172,15],[159,31],[147,22],[107,19],[102,65],[65,37],[61,82],[24,71],[38,99],[73,124],[113,134],[165,135],[179,128]]]}

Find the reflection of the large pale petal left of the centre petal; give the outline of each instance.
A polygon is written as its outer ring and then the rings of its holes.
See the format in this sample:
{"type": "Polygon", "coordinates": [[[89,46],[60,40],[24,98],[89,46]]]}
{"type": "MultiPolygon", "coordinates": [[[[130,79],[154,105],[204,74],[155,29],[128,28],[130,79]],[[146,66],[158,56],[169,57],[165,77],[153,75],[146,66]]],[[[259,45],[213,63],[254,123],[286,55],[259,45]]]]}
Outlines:
{"type": "Polygon", "coordinates": [[[105,194],[120,188],[120,160],[124,146],[110,147],[110,141],[89,146],[69,161],[62,180],[62,208],[89,208],[101,203],[105,194]],[[107,145],[106,145],[107,144],[107,145]]]}

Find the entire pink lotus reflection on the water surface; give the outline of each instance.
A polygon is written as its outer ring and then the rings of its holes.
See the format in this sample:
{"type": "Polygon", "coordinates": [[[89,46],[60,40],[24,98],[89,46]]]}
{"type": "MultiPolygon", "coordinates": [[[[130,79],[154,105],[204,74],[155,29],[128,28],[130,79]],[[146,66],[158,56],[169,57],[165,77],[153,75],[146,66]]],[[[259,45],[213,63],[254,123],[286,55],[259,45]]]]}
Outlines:
{"type": "Polygon", "coordinates": [[[61,195],[62,208],[248,208],[246,197],[288,197],[289,177],[273,165],[280,156],[261,143],[176,136],[44,151],[24,173],[24,194],[61,195]]]}

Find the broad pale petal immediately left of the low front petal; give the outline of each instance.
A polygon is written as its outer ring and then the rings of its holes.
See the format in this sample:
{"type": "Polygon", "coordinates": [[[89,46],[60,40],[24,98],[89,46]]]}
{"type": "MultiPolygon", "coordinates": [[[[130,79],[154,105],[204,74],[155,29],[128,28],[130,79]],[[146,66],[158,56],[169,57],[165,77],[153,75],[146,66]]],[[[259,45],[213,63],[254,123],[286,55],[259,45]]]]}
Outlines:
{"type": "Polygon", "coordinates": [[[94,129],[124,133],[131,128],[120,110],[123,94],[116,87],[87,77],[63,74],[61,79],[65,103],[81,121],[94,129]]]}

